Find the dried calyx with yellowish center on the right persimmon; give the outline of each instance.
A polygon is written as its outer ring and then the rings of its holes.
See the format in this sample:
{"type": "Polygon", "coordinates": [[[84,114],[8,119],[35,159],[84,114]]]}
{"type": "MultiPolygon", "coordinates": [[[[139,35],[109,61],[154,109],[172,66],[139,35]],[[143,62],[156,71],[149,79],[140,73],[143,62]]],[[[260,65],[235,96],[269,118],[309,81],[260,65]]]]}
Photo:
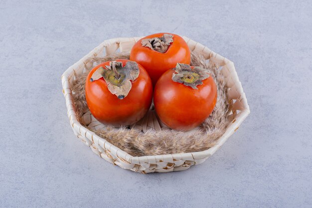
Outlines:
{"type": "Polygon", "coordinates": [[[209,70],[195,66],[191,68],[188,64],[177,63],[172,74],[172,81],[182,83],[193,89],[198,89],[202,81],[209,77],[209,70]]]}

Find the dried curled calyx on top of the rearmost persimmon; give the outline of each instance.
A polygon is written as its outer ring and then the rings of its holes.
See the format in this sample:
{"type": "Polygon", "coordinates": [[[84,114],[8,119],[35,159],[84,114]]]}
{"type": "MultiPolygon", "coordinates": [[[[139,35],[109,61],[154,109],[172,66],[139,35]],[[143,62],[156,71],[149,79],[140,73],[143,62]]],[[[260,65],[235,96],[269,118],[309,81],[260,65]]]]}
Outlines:
{"type": "Polygon", "coordinates": [[[173,42],[173,35],[164,33],[161,37],[143,39],[141,44],[157,52],[165,53],[171,42],[173,42]]]}

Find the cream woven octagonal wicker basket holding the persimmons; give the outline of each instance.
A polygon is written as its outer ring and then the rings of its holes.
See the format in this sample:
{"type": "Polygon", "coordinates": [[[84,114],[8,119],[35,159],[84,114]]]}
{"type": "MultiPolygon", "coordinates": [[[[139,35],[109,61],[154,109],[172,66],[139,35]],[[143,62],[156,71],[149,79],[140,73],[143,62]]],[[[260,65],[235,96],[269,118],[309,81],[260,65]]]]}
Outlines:
{"type": "Polygon", "coordinates": [[[142,37],[114,38],[105,40],[63,73],[61,77],[63,93],[66,100],[67,115],[69,117],[70,125],[72,126],[75,135],[88,145],[94,153],[104,158],[106,161],[124,169],[140,173],[171,172],[183,171],[192,165],[201,164],[215,153],[238,129],[239,125],[250,113],[250,110],[233,62],[185,36],[183,36],[183,38],[187,42],[191,51],[201,52],[207,60],[213,60],[222,67],[221,73],[224,75],[226,86],[228,87],[227,97],[232,111],[228,116],[228,119],[232,122],[215,146],[201,152],[133,157],[110,144],[105,139],[97,136],[93,131],[85,128],[77,119],[71,85],[76,76],[81,75],[86,67],[92,67],[90,63],[86,62],[86,60],[89,57],[104,56],[105,54],[109,55],[116,51],[129,52],[135,42],[141,38],[142,37]]]}

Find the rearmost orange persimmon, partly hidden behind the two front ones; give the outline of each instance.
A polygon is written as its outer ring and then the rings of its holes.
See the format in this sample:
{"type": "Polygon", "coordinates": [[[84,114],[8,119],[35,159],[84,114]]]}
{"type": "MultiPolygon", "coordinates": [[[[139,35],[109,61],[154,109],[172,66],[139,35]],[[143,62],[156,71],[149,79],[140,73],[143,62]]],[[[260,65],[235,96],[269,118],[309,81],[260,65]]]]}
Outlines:
{"type": "Polygon", "coordinates": [[[153,85],[166,70],[176,63],[190,64],[191,51],[185,40],[171,33],[148,35],[134,44],[130,60],[141,64],[149,73],[153,85]]]}

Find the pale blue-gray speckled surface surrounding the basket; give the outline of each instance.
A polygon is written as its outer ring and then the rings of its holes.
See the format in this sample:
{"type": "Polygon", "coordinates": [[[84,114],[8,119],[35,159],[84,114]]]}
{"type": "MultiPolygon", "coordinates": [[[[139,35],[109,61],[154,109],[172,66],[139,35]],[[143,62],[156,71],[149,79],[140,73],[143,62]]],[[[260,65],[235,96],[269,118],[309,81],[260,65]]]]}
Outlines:
{"type": "Polygon", "coordinates": [[[311,11],[308,0],[1,0],[0,207],[311,208],[311,11]],[[141,175],[76,139],[60,76],[104,39],[160,31],[234,61],[251,114],[205,163],[141,175]]]}

